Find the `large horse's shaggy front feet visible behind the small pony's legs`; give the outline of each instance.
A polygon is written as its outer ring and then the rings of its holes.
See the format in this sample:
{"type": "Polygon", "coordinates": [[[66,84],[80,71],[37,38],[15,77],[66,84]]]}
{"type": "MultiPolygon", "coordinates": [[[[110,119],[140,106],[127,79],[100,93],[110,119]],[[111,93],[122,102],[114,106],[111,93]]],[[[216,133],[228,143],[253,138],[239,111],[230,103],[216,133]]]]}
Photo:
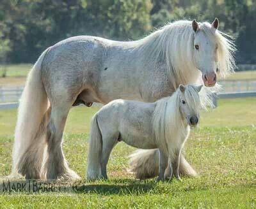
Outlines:
{"type": "MultiPolygon", "coordinates": [[[[159,174],[159,150],[136,150],[129,156],[129,173],[135,178],[154,178],[159,174]]],[[[180,155],[179,173],[195,177],[196,171],[189,165],[183,155],[180,155]]]]}

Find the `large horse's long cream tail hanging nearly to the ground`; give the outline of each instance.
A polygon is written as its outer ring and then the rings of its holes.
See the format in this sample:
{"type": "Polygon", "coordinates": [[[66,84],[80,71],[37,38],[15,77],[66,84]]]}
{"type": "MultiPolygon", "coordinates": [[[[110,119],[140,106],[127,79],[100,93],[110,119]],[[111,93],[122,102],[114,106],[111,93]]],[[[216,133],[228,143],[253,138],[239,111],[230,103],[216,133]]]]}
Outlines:
{"type": "MultiPolygon", "coordinates": [[[[19,104],[18,119],[15,129],[15,141],[13,145],[12,177],[20,173],[20,161],[28,148],[35,143],[35,138],[45,119],[48,107],[48,99],[42,83],[41,66],[44,60],[45,50],[38,58],[29,72],[26,85],[22,92],[19,104]]],[[[22,173],[22,172],[21,172],[22,173]]]]}

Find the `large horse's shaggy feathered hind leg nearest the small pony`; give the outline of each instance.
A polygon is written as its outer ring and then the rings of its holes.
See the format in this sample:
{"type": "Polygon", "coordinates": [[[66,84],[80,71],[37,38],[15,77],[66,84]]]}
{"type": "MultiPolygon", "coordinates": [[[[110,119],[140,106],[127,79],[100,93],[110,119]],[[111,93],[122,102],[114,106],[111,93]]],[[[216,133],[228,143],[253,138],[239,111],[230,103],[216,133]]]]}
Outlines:
{"type": "Polygon", "coordinates": [[[45,162],[47,179],[65,178],[75,180],[80,178],[72,169],[68,168],[67,161],[62,150],[63,129],[70,106],[52,106],[50,122],[47,126],[47,151],[45,162]]]}

